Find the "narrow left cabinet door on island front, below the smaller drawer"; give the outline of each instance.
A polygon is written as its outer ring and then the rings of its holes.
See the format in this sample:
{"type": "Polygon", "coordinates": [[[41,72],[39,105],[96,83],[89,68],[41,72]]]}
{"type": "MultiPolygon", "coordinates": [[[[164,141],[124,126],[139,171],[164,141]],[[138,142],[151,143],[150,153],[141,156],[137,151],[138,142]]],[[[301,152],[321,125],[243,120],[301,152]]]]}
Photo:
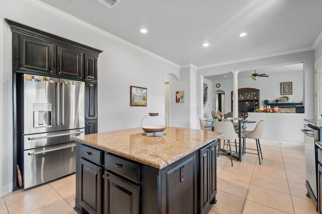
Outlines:
{"type": "Polygon", "coordinates": [[[81,192],[79,203],[89,213],[101,213],[102,210],[102,167],[89,161],[79,161],[81,192]]]}

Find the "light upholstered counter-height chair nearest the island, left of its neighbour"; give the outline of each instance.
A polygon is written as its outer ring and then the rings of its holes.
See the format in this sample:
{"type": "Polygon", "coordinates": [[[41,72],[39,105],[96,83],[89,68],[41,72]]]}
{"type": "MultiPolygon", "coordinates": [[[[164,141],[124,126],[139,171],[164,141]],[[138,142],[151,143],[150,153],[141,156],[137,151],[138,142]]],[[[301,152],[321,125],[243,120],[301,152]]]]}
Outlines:
{"type": "Polygon", "coordinates": [[[231,151],[231,140],[235,141],[235,148],[236,151],[234,152],[234,154],[236,154],[236,156],[238,157],[238,150],[237,150],[237,142],[236,139],[238,138],[238,134],[235,132],[235,129],[232,125],[232,123],[230,121],[215,121],[214,122],[214,131],[215,132],[220,132],[223,133],[222,136],[218,137],[218,152],[217,152],[217,156],[219,155],[226,155],[226,154],[230,154],[230,158],[231,158],[231,166],[232,166],[232,151],[231,151]],[[228,145],[229,145],[229,152],[219,152],[221,149],[221,140],[227,141],[228,145]]]}

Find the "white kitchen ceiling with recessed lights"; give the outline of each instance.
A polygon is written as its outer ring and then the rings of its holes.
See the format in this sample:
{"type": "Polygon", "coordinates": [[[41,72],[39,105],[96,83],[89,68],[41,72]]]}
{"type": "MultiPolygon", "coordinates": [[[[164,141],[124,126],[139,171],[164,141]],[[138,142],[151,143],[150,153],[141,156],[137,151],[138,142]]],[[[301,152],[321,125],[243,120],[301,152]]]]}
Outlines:
{"type": "Polygon", "coordinates": [[[322,32],[321,0],[41,1],[181,66],[312,49],[322,32]]]}

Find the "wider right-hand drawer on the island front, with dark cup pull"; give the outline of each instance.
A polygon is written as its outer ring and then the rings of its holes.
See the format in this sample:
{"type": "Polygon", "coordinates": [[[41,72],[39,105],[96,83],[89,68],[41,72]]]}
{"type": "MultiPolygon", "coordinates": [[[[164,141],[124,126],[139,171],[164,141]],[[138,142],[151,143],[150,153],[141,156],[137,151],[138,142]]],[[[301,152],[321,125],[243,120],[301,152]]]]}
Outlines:
{"type": "Polygon", "coordinates": [[[105,168],[139,183],[140,165],[105,153],[105,168]]]}

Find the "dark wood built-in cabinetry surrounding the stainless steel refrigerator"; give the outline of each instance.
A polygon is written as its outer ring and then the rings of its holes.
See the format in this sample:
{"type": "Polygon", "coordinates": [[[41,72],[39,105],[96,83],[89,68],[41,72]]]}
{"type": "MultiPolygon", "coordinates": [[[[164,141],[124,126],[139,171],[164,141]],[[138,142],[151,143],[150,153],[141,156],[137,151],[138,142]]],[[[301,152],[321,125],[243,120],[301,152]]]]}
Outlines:
{"type": "MultiPolygon", "coordinates": [[[[102,52],[59,36],[5,19],[12,30],[13,91],[17,91],[20,73],[65,78],[85,82],[85,134],[97,133],[97,74],[98,57],[102,52]]],[[[22,140],[19,137],[17,106],[14,94],[14,167],[19,160],[22,140]],[[17,157],[18,156],[18,157],[17,157]]],[[[14,170],[13,189],[17,188],[17,170],[14,170]]]]}

